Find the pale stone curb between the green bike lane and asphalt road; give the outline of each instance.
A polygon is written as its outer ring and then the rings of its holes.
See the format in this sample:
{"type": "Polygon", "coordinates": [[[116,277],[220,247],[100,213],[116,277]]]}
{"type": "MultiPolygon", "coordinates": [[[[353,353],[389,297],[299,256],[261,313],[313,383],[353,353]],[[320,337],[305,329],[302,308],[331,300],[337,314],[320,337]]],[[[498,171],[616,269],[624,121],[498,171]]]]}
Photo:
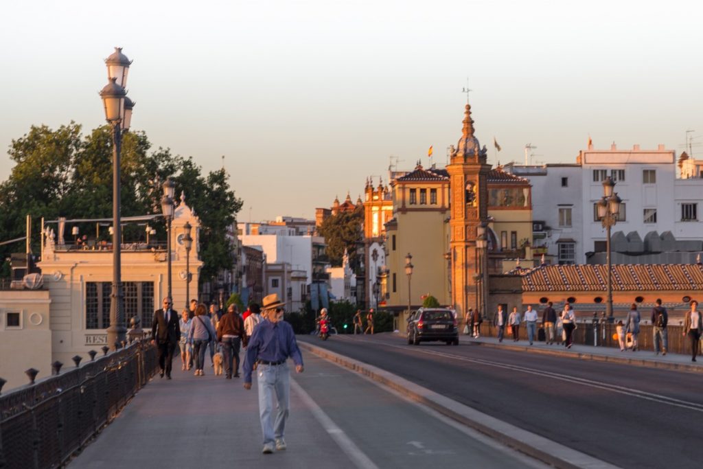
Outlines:
{"type": "Polygon", "coordinates": [[[538,461],[553,465],[560,469],[614,469],[612,465],[588,454],[576,451],[568,446],[553,442],[550,439],[535,433],[518,428],[510,423],[503,422],[469,406],[460,404],[437,392],[411,383],[393,373],[384,371],[373,365],[350,359],[347,356],[330,352],[322,347],[311,345],[307,342],[298,342],[298,346],[307,351],[332,361],[335,364],[361,373],[366,377],[385,385],[386,387],[404,394],[413,401],[419,402],[457,422],[482,432],[484,435],[496,439],[507,446],[536,458],[538,461]]]}

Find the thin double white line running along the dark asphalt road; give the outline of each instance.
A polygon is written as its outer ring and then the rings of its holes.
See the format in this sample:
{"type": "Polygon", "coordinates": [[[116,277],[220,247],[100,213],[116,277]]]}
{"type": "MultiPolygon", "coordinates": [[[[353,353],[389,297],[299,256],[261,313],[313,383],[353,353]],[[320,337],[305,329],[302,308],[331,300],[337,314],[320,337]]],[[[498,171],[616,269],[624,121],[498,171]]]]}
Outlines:
{"type": "Polygon", "coordinates": [[[662,394],[654,394],[652,392],[647,392],[643,390],[636,390],[632,387],[624,387],[619,385],[612,385],[610,383],[602,383],[600,381],[588,380],[586,378],[579,378],[577,376],[560,375],[553,373],[552,371],[543,371],[536,368],[528,368],[527,366],[519,366],[512,364],[503,364],[498,361],[490,361],[484,359],[470,359],[465,356],[449,354],[446,352],[437,352],[435,350],[423,350],[417,348],[408,348],[401,345],[385,344],[383,342],[375,342],[371,340],[357,339],[357,342],[369,342],[378,345],[384,345],[385,347],[391,347],[395,349],[406,350],[409,352],[418,352],[427,355],[437,355],[444,358],[451,358],[460,361],[468,361],[470,363],[475,363],[485,366],[494,366],[496,368],[505,368],[511,371],[520,371],[520,373],[527,373],[531,375],[538,375],[545,378],[552,378],[554,380],[565,381],[567,383],[574,383],[579,385],[585,385],[589,387],[595,387],[596,389],[606,390],[611,392],[616,392],[617,394],[625,394],[630,397],[638,397],[646,401],[657,402],[659,404],[669,404],[670,406],[681,407],[682,409],[688,409],[697,412],[703,412],[703,404],[698,404],[697,402],[683,401],[681,399],[676,399],[675,397],[668,397],[662,394]]]}

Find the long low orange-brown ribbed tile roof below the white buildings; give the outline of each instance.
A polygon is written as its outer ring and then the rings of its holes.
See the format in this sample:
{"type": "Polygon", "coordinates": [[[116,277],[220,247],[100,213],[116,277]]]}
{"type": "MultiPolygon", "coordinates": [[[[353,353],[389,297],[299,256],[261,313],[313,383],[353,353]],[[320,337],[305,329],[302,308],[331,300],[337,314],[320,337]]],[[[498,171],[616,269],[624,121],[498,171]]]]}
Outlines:
{"type": "MultiPolygon", "coordinates": [[[[701,264],[616,264],[613,267],[613,290],[703,290],[701,264]]],[[[522,274],[522,290],[605,291],[605,265],[546,265],[522,274]]]]}

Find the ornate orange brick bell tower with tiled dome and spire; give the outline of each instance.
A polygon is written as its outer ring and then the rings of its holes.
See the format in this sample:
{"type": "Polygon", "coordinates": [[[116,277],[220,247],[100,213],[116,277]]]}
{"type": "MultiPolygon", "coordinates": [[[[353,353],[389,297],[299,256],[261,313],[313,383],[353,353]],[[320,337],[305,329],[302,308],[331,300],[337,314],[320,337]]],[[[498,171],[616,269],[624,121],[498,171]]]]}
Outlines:
{"type": "Polygon", "coordinates": [[[486,162],[486,147],[481,148],[474,136],[468,104],[463,124],[461,138],[456,148],[451,146],[450,163],[446,167],[451,191],[451,295],[458,318],[477,305],[481,269],[476,238],[479,226],[488,218],[487,179],[491,169],[486,162]]]}

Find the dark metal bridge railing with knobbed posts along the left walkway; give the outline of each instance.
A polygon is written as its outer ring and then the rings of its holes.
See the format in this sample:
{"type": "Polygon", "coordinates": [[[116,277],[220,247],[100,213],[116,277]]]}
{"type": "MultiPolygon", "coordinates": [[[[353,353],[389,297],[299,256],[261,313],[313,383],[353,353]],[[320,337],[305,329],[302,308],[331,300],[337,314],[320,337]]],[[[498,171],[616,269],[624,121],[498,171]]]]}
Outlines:
{"type": "Polygon", "coordinates": [[[0,469],[56,468],[110,423],[157,370],[156,349],[136,340],[34,383],[0,395],[0,469]]]}

